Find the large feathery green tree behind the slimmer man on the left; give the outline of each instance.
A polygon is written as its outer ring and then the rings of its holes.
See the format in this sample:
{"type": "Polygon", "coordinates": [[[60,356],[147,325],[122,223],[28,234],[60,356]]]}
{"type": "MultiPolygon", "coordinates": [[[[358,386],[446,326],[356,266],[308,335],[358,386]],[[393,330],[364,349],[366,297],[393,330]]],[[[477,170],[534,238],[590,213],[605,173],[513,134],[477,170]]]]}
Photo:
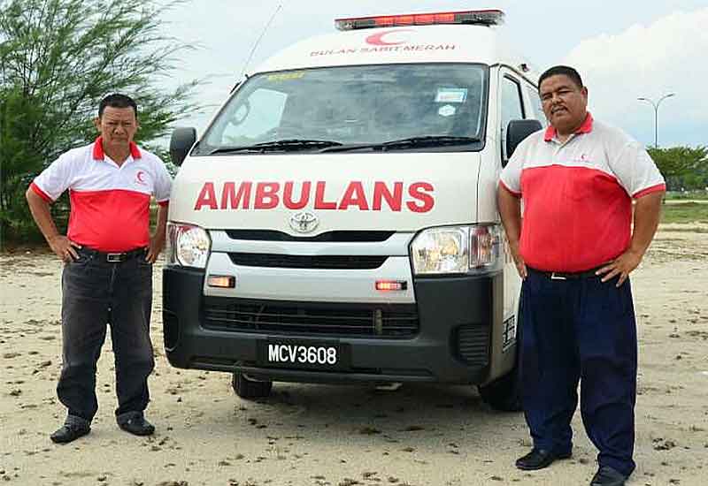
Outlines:
{"type": "MultiPolygon", "coordinates": [[[[0,243],[37,234],[27,185],[59,154],[96,137],[92,119],[104,95],[133,96],[137,141],[165,156],[154,140],[197,109],[190,99],[198,84],[160,86],[176,54],[189,49],[162,34],[159,14],[171,5],[0,0],[0,243]]],[[[66,204],[52,210],[65,211],[66,204]]]]}

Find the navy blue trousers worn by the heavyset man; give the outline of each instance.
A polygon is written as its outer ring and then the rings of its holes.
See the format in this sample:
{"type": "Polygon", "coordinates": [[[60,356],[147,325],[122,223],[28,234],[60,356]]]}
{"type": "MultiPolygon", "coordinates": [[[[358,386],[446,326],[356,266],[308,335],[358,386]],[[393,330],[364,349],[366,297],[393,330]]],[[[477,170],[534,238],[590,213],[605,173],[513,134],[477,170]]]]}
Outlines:
{"type": "Polygon", "coordinates": [[[551,280],[528,272],[522,285],[521,374],[534,446],[573,448],[578,405],[600,466],[635,469],[636,324],[627,280],[551,280]]]}

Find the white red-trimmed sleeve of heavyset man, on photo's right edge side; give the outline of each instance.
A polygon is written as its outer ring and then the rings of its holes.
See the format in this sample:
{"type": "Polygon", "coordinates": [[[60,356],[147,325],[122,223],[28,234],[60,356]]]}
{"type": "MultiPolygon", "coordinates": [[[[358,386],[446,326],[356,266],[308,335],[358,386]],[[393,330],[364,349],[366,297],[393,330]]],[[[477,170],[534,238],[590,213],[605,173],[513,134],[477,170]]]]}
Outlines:
{"type": "Polygon", "coordinates": [[[627,141],[616,156],[610,155],[609,161],[610,169],[631,197],[666,190],[657,164],[639,142],[627,141]]]}

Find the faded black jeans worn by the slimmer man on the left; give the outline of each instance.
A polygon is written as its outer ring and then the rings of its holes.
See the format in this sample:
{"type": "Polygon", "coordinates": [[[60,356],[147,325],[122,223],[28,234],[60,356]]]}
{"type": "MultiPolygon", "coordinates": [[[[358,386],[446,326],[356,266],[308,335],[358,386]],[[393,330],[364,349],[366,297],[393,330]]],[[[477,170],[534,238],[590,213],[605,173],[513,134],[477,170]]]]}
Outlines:
{"type": "Polygon", "coordinates": [[[148,376],[155,366],[150,343],[152,265],[138,255],[106,262],[100,254],[78,250],[80,259],[62,274],[63,367],[58,398],[70,418],[90,422],[98,409],[96,361],[111,326],[115,355],[116,416],[148,406],[148,376]]]}

